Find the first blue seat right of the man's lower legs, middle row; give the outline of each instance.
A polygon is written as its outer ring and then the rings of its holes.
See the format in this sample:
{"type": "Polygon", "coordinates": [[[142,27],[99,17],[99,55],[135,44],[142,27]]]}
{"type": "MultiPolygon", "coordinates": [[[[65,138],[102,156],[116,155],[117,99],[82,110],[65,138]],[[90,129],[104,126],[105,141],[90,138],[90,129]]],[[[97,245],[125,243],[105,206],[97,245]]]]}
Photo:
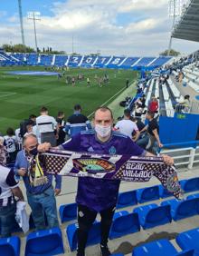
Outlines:
{"type": "Polygon", "coordinates": [[[109,239],[140,231],[137,213],[128,213],[114,218],[109,232],[109,239]]]}

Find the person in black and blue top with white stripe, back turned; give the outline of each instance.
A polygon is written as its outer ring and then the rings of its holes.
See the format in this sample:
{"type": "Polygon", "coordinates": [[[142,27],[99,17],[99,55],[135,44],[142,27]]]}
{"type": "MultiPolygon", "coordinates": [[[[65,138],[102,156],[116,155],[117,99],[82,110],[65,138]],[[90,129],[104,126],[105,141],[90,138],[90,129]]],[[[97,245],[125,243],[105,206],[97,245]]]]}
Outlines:
{"type": "Polygon", "coordinates": [[[90,121],[81,113],[81,105],[76,104],[74,106],[74,113],[67,120],[65,132],[70,136],[73,136],[81,131],[91,128],[90,121]]]}

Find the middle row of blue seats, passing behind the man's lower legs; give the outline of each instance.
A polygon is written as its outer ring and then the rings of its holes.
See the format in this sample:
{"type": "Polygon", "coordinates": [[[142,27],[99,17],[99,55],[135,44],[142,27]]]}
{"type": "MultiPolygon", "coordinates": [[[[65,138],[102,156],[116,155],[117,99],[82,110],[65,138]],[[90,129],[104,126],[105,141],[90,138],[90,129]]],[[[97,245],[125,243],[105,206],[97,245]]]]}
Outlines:
{"type": "MultiPolygon", "coordinates": [[[[137,207],[133,212],[116,212],[114,214],[109,239],[115,239],[130,233],[163,225],[169,222],[182,220],[187,217],[199,214],[199,196],[183,201],[170,200],[137,207]]],[[[66,233],[71,251],[77,247],[78,224],[72,223],[67,226],[66,233]]],[[[88,245],[100,242],[100,222],[94,222],[90,229],[88,245]]]]}

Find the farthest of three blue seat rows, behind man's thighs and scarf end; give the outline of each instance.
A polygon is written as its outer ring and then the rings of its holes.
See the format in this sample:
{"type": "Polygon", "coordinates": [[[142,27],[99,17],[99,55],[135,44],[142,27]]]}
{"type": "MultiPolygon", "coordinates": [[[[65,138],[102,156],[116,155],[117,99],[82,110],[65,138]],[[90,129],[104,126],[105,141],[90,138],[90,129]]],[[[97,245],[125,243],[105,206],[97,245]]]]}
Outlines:
{"type": "MultiPolygon", "coordinates": [[[[199,191],[199,178],[192,178],[180,182],[183,191],[194,192],[199,191]]],[[[162,185],[156,185],[148,188],[138,189],[137,191],[121,192],[118,194],[117,208],[124,208],[137,205],[137,202],[150,202],[159,198],[172,196],[162,185]]],[[[68,222],[77,219],[77,204],[63,204],[59,208],[61,222],[68,222]]]]}

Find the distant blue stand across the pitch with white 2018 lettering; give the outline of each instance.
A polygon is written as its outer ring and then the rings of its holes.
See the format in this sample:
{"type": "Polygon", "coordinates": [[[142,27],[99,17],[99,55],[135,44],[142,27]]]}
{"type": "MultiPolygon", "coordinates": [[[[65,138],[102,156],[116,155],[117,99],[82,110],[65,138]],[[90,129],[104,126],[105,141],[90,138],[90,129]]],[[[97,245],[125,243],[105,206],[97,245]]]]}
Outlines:
{"type": "Polygon", "coordinates": [[[120,57],[94,55],[57,55],[57,54],[6,54],[0,52],[0,65],[42,65],[42,66],[81,66],[84,68],[124,68],[159,67],[166,64],[170,57],[120,57]]]}

